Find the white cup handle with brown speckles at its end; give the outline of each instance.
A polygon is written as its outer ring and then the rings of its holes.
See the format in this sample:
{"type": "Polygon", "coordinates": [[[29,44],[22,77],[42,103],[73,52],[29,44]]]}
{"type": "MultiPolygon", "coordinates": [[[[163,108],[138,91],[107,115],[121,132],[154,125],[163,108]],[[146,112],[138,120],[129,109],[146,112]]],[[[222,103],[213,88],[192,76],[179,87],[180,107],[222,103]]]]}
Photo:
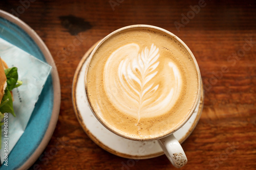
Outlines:
{"type": "Polygon", "coordinates": [[[179,141],[174,137],[173,134],[158,139],[158,142],[169,161],[175,167],[180,168],[187,163],[187,157],[179,141]]]}

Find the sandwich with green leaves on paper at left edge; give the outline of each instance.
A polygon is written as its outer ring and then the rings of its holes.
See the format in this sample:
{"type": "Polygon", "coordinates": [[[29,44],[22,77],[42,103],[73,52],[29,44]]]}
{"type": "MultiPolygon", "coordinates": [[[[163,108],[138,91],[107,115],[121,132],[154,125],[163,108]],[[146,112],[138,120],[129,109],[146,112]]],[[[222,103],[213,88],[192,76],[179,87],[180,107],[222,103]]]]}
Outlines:
{"type": "Polygon", "coordinates": [[[5,113],[11,113],[16,116],[13,110],[12,90],[20,85],[22,81],[18,80],[17,67],[8,68],[8,65],[0,57],[0,126],[3,125],[5,113]]]}

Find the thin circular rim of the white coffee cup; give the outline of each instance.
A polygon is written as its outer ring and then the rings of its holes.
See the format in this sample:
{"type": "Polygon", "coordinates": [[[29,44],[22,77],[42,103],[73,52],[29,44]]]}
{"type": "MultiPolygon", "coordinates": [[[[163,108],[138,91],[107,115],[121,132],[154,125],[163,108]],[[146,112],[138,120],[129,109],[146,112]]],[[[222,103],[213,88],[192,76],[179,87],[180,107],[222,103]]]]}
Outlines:
{"type": "Polygon", "coordinates": [[[196,106],[198,104],[198,102],[200,101],[200,95],[201,95],[201,86],[202,86],[202,80],[201,80],[201,74],[200,74],[200,69],[199,69],[199,66],[198,66],[198,63],[197,63],[197,60],[195,58],[195,56],[193,55],[193,53],[190,51],[190,49],[188,48],[188,46],[179,38],[177,37],[175,34],[165,30],[165,29],[162,29],[160,27],[156,27],[156,26],[151,26],[151,25],[131,25],[131,26],[126,26],[126,27],[122,27],[118,30],[115,30],[114,32],[110,33],[109,35],[105,36],[103,39],[100,40],[100,42],[94,47],[92,53],[90,54],[89,58],[88,58],[88,62],[87,62],[87,65],[86,65],[86,71],[84,73],[84,92],[86,94],[86,99],[87,99],[87,102],[88,102],[88,105],[91,109],[91,111],[93,112],[94,116],[99,120],[99,122],[108,130],[110,130],[111,132],[115,133],[116,135],[119,135],[123,138],[126,138],[126,139],[131,139],[131,140],[137,140],[137,141],[150,141],[150,140],[156,140],[156,139],[160,139],[160,138],[163,138],[165,136],[168,136],[170,134],[173,134],[174,132],[176,132],[177,130],[179,130],[186,122],[187,120],[191,117],[191,115],[193,114],[193,112],[195,111],[196,109],[196,106]],[[196,96],[196,99],[194,101],[194,104],[193,104],[193,107],[192,109],[190,110],[190,112],[187,114],[187,116],[182,120],[182,122],[177,125],[175,128],[173,128],[172,131],[169,131],[167,133],[164,133],[164,134],[161,134],[159,136],[156,136],[156,137],[145,137],[145,138],[137,138],[137,137],[132,137],[132,136],[126,136],[120,132],[117,132],[115,130],[113,130],[108,124],[106,124],[104,122],[104,120],[98,115],[98,113],[96,112],[96,110],[94,109],[92,103],[91,103],[91,100],[89,98],[89,93],[88,93],[88,86],[87,86],[87,77],[88,77],[88,69],[89,69],[89,65],[91,63],[91,60],[93,58],[93,55],[95,54],[95,52],[98,50],[98,48],[101,46],[102,43],[104,43],[106,40],[108,40],[110,37],[112,37],[113,35],[121,32],[121,31],[124,31],[124,30],[128,30],[128,29],[134,29],[134,28],[148,28],[148,29],[155,29],[157,31],[162,31],[170,36],[172,36],[173,38],[175,38],[177,41],[179,41],[187,50],[187,52],[189,53],[189,55],[191,56],[191,58],[193,59],[194,61],[194,64],[196,66],[196,72],[197,72],[197,78],[198,78],[198,88],[197,88],[197,96],[196,96]]]}

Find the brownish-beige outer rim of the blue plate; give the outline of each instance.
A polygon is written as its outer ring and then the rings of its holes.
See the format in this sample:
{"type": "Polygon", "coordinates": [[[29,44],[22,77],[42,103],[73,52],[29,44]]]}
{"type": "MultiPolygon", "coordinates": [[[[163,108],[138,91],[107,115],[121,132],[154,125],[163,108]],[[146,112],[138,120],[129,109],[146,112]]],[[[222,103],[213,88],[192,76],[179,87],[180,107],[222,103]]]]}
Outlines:
{"type": "Polygon", "coordinates": [[[52,115],[51,119],[48,125],[48,128],[46,130],[46,133],[44,137],[42,138],[41,142],[38,144],[36,150],[32,153],[32,155],[27,159],[26,162],[23,163],[22,166],[18,167],[18,169],[28,169],[33,163],[38,159],[40,154],[45,150],[47,147],[53,132],[55,130],[57,120],[58,120],[58,115],[59,115],[59,110],[60,110],[60,102],[61,102],[61,95],[60,95],[60,81],[59,81],[59,76],[58,76],[58,71],[57,67],[55,65],[55,62],[53,60],[53,57],[44,43],[42,39],[37,35],[37,33],[27,25],[24,21],[19,19],[18,17],[3,11],[0,9],[0,16],[9,20],[10,22],[14,23],[21,29],[23,29],[30,37],[33,39],[36,43],[36,45],[39,47],[41,50],[42,54],[44,55],[47,63],[52,66],[51,70],[51,76],[52,76],[52,83],[53,83],[53,109],[52,109],[52,115]]]}

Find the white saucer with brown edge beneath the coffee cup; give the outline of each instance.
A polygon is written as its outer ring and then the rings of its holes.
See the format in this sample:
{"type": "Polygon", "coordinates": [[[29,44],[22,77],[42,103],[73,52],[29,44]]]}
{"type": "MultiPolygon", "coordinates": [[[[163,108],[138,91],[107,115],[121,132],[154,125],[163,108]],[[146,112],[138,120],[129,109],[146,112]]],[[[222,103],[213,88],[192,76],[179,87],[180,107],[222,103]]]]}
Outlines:
{"type": "MultiPolygon", "coordinates": [[[[97,42],[98,43],[98,42],[97,42]]],[[[84,93],[84,72],[87,58],[90,56],[95,43],[84,56],[76,68],[72,85],[72,102],[78,122],[84,132],[102,149],[120,157],[129,159],[147,159],[163,155],[163,150],[156,140],[134,141],[120,137],[106,129],[92,113],[84,93]]],[[[201,91],[201,99],[196,110],[187,120],[187,123],[174,133],[180,143],[195,129],[203,110],[204,92],[201,91]]]]}

